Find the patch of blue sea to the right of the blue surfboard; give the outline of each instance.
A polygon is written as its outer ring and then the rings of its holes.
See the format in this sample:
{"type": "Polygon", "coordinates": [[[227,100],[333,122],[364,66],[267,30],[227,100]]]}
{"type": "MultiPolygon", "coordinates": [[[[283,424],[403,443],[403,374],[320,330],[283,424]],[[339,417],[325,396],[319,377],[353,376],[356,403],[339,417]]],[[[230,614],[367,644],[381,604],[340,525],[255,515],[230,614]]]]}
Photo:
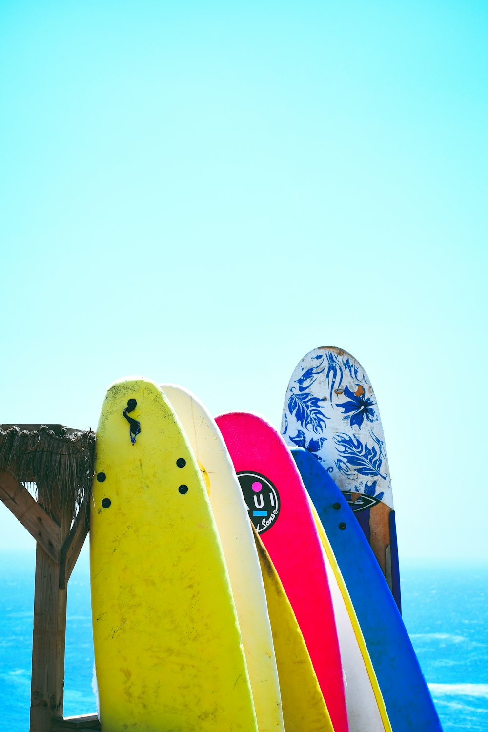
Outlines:
{"type": "Polygon", "coordinates": [[[400,567],[403,619],[445,732],[488,730],[488,564],[400,567]]]}

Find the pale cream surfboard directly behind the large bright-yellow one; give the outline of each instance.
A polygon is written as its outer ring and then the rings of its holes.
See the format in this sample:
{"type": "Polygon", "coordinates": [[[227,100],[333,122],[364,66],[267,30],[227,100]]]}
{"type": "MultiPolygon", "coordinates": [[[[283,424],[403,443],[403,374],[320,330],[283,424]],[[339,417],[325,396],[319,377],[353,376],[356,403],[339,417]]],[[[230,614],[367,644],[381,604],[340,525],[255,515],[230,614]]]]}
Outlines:
{"type": "Polygon", "coordinates": [[[283,731],[266,594],[236,471],[214,418],[197,397],[175,384],[161,384],[161,388],[179,417],[209,493],[236,603],[259,731],[283,731]]]}

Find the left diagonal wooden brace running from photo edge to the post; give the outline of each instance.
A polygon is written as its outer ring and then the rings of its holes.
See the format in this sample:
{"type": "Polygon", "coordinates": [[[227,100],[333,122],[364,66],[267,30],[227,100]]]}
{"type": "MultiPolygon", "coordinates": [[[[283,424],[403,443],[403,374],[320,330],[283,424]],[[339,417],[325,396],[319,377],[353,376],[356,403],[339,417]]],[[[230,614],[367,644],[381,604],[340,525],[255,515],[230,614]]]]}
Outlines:
{"type": "Polygon", "coordinates": [[[0,471],[0,498],[50,559],[59,563],[61,529],[12,473],[0,471]]]}

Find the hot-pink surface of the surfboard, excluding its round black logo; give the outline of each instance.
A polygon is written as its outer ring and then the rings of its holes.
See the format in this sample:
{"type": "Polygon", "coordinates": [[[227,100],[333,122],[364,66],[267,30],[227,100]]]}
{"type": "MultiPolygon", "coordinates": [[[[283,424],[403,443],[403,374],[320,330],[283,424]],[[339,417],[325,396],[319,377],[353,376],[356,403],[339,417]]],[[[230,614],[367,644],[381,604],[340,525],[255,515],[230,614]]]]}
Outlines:
{"type": "Polygon", "coordinates": [[[334,732],[348,732],[339,641],[307,492],[282,436],[262,417],[217,417],[249,518],[271,556],[304,636],[334,732]]]}

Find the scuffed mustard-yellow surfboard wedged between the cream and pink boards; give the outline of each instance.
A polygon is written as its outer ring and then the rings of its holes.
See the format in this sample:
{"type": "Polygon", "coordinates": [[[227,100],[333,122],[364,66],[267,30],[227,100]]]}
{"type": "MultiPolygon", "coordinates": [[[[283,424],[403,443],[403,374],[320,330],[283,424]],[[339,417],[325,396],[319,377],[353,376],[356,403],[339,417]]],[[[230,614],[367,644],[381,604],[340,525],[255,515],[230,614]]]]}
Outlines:
{"type": "MultiPolygon", "coordinates": [[[[249,522],[250,523],[250,522],[249,522]]],[[[281,580],[252,526],[268,601],[286,732],[334,732],[312,661],[281,580]]]]}

